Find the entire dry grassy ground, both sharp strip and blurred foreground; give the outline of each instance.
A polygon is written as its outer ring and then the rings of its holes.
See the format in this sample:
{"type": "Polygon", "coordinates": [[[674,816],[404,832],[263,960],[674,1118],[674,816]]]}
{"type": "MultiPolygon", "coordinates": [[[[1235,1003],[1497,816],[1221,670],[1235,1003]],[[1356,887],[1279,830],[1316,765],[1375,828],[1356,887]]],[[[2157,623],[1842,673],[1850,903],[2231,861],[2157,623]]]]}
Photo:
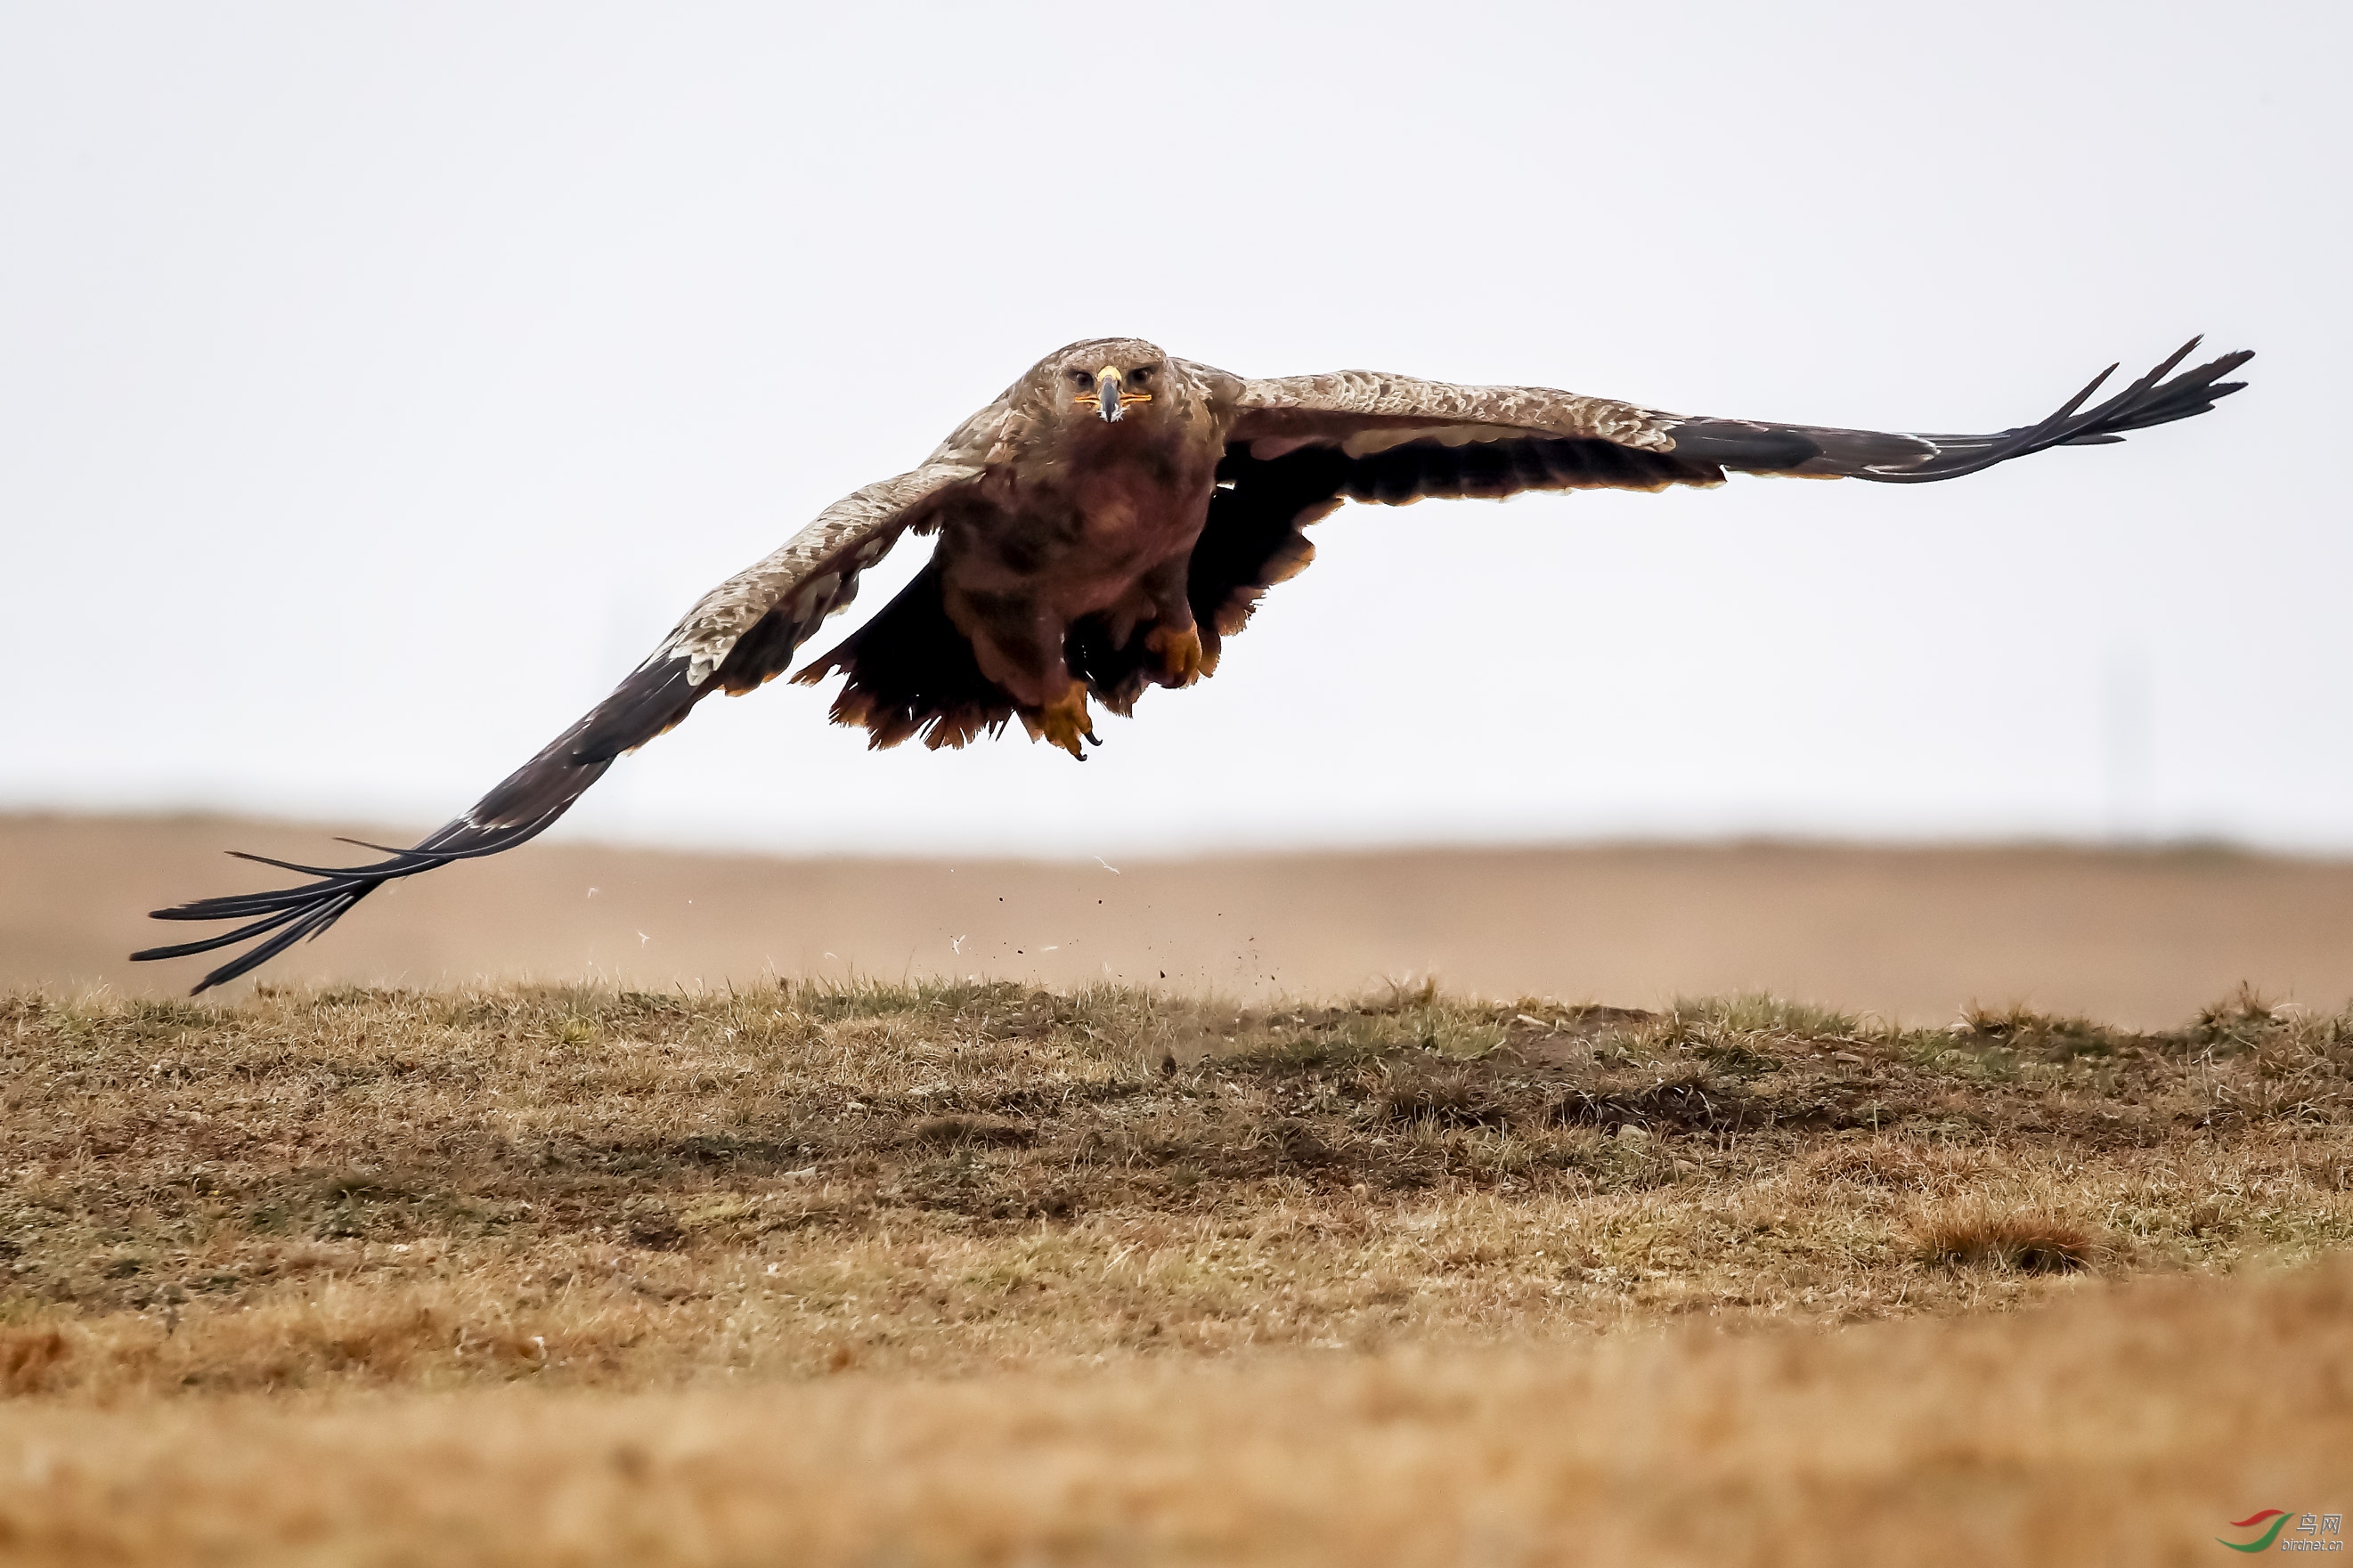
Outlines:
{"type": "Polygon", "coordinates": [[[2348,1079],[2252,997],[19,994],[0,1559],[2207,1561],[2353,1497],[2348,1079]]]}

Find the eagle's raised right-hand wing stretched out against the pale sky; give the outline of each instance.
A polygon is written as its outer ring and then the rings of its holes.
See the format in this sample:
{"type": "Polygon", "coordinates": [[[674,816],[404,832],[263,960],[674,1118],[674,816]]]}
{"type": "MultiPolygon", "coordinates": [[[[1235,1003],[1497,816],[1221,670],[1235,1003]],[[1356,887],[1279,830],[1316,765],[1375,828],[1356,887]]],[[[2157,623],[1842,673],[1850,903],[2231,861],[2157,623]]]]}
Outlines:
{"type": "Polygon", "coordinates": [[[1449,386],[1374,371],[1238,381],[1219,491],[1193,552],[1193,614],[1214,658],[1212,632],[1238,632],[1266,588],[1306,567],[1315,550],[1301,529],[1344,501],[1666,489],[1722,484],[1727,473],[1922,484],[2047,447],[2118,442],[2125,430],[2205,414],[2245,386],[2224,376],[2252,353],[2174,376],[2195,348],[2191,339],[2122,393],[2092,404],[2115,374],[2111,364],[2049,418],[1993,435],[1692,418],[1534,386],[1449,386]]]}

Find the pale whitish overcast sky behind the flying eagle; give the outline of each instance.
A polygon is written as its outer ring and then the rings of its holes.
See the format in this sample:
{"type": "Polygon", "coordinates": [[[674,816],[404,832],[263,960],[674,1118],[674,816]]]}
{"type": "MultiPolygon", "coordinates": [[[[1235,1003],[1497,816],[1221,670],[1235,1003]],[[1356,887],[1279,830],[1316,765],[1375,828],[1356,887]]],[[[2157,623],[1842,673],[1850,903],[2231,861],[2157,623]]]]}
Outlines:
{"type": "Polygon", "coordinates": [[[779,682],[562,832],[2353,849],[2348,45],[2344,5],[0,7],[0,806],[442,820],[1080,336],[1984,430],[2205,331],[2261,350],[2214,414],[1955,484],[1346,508],[1087,766],[868,755],[779,682]]]}

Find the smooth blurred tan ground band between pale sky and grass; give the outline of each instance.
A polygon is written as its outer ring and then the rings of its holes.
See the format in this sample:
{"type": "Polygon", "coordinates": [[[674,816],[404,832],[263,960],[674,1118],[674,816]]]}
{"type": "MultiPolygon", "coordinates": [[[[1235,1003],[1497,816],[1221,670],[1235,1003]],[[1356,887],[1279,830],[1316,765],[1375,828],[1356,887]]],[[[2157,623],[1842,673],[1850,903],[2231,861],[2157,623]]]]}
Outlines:
{"type": "MultiPolygon", "coordinates": [[[[358,830],[384,839],[395,830],[358,830]]],[[[0,985],[174,994],[144,912],[278,877],[327,827],[0,818],[0,985]]],[[[402,839],[405,842],[405,839],[402,839]]],[[[2167,1027],[2252,983],[2353,997],[2353,863],[2228,851],[1621,846],[1101,865],[776,860],[534,844],[400,884],[278,980],[1101,980],[1186,994],[1457,992],[1661,1006],[1767,990],[1941,1025],[1972,1001],[2167,1027]],[[595,889],[595,893],[591,893],[595,889]]]]}

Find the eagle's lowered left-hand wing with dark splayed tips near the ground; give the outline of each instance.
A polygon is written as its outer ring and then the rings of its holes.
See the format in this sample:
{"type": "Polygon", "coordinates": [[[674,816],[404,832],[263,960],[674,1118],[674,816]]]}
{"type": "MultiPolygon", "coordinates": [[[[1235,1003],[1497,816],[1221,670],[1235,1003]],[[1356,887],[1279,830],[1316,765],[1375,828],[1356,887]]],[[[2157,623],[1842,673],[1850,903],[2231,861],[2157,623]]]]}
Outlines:
{"type": "Polygon", "coordinates": [[[1002,400],[965,421],[922,468],[842,496],[781,550],[704,595],[612,696],[508,773],[466,816],[426,835],[412,849],[362,844],[388,856],[369,865],[294,865],[231,851],[242,860],[301,872],[318,882],[155,910],[155,919],[240,924],[195,943],[148,947],[132,959],[179,959],[254,940],[198,980],[195,990],[202,992],[271,961],[306,936],[318,936],[395,877],[494,856],[536,837],[605,776],[614,757],[685,719],[694,703],[713,691],[739,696],[781,675],[793,649],[828,614],[849,604],[859,571],[875,564],[901,534],[927,531],[936,522],[936,508],[979,477],[1000,414],[1002,400]]]}

